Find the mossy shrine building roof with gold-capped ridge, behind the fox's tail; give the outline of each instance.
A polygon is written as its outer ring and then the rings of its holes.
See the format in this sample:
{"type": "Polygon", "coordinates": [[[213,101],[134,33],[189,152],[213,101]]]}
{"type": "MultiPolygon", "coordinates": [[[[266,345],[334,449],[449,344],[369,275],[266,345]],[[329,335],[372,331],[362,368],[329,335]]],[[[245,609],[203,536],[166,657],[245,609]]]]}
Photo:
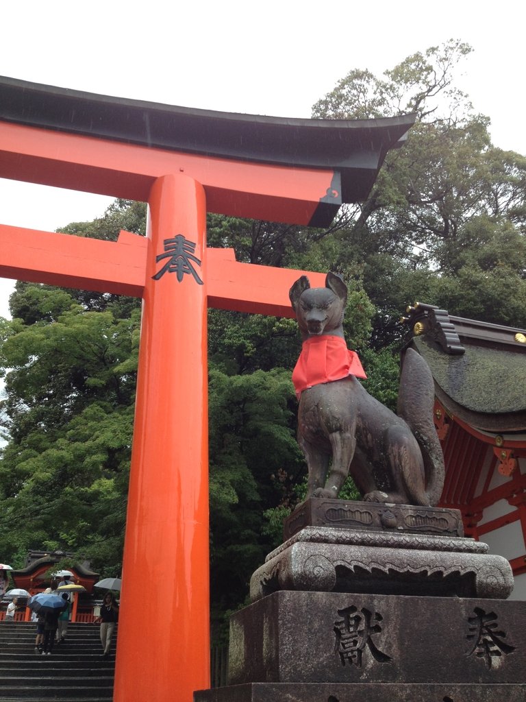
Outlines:
{"type": "Polygon", "coordinates": [[[405,323],[452,416],[489,432],[526,430],[526,331],[417,303],[405,323]]]}

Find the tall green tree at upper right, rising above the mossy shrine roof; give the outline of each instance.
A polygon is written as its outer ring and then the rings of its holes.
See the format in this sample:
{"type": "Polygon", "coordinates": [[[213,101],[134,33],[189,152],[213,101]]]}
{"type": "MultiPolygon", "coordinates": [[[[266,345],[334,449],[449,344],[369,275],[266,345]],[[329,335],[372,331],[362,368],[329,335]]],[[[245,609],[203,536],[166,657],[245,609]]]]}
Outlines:
{"type": "Polygon", "coordinates": [[[455,88],[457,65],[470,51],[451,40],[382,78],[355,69],[313,107],[313,117],[335,119],[417,113],[367,201],[346,208],[332,233],[340,265],[361,267],[377,310],[377,350],[400,343],[398,317],[416,300],[487,322],[526,324],[525,158],[494,147],[489,119],[455,88]]]}

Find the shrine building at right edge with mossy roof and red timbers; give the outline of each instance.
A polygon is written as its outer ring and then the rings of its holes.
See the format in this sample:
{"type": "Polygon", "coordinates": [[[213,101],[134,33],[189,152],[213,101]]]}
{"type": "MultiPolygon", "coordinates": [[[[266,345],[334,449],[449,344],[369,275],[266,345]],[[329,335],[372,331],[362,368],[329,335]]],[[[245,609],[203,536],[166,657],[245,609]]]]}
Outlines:
{"type": "Polygon", "coordinates": [[[460,510],[466,536],[508,559],[509,599],[526,600],[526,331],[422,303],[403,322],[435,381],[439,505],[460,510]]]}

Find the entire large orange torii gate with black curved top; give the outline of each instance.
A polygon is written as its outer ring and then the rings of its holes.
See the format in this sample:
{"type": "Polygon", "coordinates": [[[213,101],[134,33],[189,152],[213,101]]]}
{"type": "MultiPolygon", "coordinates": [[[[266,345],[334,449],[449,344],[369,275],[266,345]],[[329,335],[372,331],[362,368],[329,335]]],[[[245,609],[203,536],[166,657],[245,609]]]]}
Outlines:
{"type": "Polygon", "coordinates": [[[206,212],[328,225],[367,197],[413,121],[256,117],[0,78],[0,177],[149,204],[146,239],[0,225],[0,275],[143,298],[116,702],[191,702],[209,686],[206,310],[292,316],[304,273],[207,248],[206,212]],[[144,572],[157,586],[139,605],[144,572]]]}

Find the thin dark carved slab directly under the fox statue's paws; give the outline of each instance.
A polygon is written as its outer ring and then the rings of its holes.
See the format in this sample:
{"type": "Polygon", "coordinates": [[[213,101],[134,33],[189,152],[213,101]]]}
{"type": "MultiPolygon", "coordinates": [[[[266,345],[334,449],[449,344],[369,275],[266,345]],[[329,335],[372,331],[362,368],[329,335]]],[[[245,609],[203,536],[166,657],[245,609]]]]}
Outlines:
{"type": "Polygon", "coordinates": [[[406,534],[464,536],[459,510],[309,498],[283,522],[283,539],[305,527],[339,527],[353,531],[403,531],[406,534]]]}

